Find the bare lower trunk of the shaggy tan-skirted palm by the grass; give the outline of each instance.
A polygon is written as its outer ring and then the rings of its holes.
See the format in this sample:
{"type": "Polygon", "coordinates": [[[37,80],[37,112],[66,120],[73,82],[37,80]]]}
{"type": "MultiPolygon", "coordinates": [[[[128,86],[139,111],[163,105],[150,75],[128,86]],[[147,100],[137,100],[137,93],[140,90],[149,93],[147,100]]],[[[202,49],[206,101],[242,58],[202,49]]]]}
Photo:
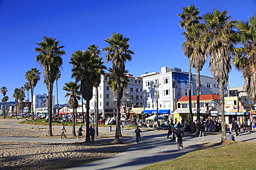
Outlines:
{"type": "Polygon", "coordinates": [[[221,98],[221,142],[226,140],[226,123],[224,111],[224,83],[219,83],[219,94],[221,98]]]}

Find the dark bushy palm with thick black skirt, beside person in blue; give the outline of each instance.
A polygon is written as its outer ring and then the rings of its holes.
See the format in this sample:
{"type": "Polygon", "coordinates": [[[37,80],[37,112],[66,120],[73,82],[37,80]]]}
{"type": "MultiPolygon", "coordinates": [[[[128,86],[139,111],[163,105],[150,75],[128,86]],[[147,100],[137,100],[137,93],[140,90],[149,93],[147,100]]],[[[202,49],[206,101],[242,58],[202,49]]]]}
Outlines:
{"type": "Polygon", "coordinates": [[[95,81],[98,80],[98,74],[104,67],[102,65],[102,58],[92,55],[89,50],[82,52],[80,50],[75,51],[71,54],[71,63],[73,69],[71,70],[72,77],[75,78],[75,82],[81,82],[80,92],[84,100],[86,100],[86,140],[85,142],[90,142],[89,134],[89,109],[90,100],[93,97],[93,85],[95,81]]]}

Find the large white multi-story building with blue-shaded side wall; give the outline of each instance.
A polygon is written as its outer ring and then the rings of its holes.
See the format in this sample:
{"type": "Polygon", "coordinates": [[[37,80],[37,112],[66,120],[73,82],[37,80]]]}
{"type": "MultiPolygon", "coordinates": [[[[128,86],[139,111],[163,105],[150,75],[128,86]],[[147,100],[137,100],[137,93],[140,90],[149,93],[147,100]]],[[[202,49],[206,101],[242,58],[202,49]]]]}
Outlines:
{"type": "MultiPolygon", "coordinates": [[[[161,73],[151,72],[141,75],[143,77],[145,114],[173,114],[176,103],[182,96],[188,96],[189,73],[182,72],[180,68],[161,67],[161,73]],[[158,92],[158,98],[156,98],[158,92]],[[157,99],[157,100],[156,100],[157,99]]],[[[200,76],[200,94],[219,94],[219,86],[214,78],[200,76]]],[[[192,96],[196,95],[196,75],[192,74],[192,96]]],[[[228,86],[224,89],[228,96],[228,86]]]]}

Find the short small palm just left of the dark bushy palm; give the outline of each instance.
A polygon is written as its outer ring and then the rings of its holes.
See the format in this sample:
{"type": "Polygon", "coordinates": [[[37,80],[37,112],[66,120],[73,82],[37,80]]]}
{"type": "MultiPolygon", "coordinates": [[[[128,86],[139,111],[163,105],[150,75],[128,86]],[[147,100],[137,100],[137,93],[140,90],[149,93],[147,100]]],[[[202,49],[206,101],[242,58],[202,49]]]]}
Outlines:
{"type": "Polygon", "coordinates": [[[78,101],[80,100],[80,92],[79,92],[80,85],[77,85],[75,82],[69,82],[65,83],[65,86],[63,86],[63,89],[67,92],[65,95],[65,98],[67,96],[70,96],[68,100],[68,106],[73,109],[73,129],[72,129],[72,136],[75,136],[75,116],[76,116],[76,108],[78,107],[78,101]]]}

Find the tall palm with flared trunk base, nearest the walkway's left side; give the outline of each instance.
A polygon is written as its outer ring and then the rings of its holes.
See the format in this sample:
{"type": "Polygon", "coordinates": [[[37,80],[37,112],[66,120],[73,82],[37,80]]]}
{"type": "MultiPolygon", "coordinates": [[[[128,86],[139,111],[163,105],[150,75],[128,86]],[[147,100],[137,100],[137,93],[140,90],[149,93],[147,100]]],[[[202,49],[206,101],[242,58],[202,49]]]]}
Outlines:
{"type": "Polygon", "coordinates": [[[133,51],[129,50],[129,37],[125,37],[120,33],[111,34],[111,38],[104,39],[109,43],[109,47],[105,47],[104,51],[106,54],[106,61],[112,61],[113,73],[116,76],[116,88],[114,91],[114,96],[117,100],[116,105],[116,135],[115,140],[112,143],[121,143],[119,140],[119,131],[120,131],[120,100],[122,98],[122,88],[120,87],[121,77],[125,73],[125,62],[131,61],[131,54],[134,54],[133,51]]]}

